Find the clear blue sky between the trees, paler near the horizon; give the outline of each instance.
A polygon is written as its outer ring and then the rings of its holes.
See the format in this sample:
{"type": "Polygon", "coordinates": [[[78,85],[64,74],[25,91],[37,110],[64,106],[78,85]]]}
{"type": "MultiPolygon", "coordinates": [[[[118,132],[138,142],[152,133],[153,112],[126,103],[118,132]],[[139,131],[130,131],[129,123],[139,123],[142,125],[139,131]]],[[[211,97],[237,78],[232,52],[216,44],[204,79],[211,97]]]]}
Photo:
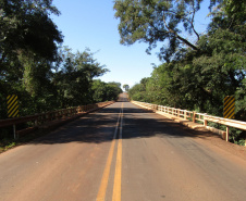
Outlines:
{"type": "MultiPolygon", "coordinates": [[[[120,43],[120,20],[114,17],[113,0],[53,0],[53,5],[61,12],[61,15],[52,15],[51,18],[64,36],[63,46],[74,53],[86,48],[95,52],[94,59],[110,70],[98,77],[102,81],[118,81],[132,87],[142,78],[151,76],[153,64],[162,63],[157,56],[158,48],[149,55],[145,52],[147,43],[120,43]]],[[[206,30],[208,23],[208,5],[202,7],[196,22],[200,32],[206,30]]]]}

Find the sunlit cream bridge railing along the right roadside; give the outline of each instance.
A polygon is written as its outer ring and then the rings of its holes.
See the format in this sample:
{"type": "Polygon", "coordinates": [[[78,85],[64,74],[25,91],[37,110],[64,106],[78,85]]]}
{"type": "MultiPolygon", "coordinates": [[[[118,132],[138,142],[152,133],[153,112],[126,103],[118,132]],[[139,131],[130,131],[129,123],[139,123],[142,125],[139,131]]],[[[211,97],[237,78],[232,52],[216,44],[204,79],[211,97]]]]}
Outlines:
{"type": "Polygon", "coordinates": [[[164,114],[172,115],[177,118],[192,121],[193,123],[204,124],[204,126],[207,127],[209,130],[219,133],[222,136],[224,135],[225,136],[224,138],[226,141],[229,140],[229,127],[246,130],[246,122],[242,122],[242,121],[229,120],[229,118],[208,115],[206,113],[197,113],[195,111],[181,110],[181,109],[175,109],[170,106],[151,104],[147,102],[139,102],[139,101],[132,101],[132,102],[143,108],[150,109],[153,111],[160,111],[164,114]],[[226,126],[226,130],[222,131],[222,130],[212,128],[208,126],[208,122],[224,125],[226,126]]]}

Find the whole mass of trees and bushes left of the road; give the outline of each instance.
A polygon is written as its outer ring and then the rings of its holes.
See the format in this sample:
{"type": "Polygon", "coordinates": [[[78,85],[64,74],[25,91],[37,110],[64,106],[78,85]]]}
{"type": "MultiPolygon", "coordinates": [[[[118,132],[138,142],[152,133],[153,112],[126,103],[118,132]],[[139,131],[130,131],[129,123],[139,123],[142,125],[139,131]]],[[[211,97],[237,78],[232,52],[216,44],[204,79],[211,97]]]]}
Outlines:
{"type": "Polygon", "coordinates": [[[122,91],[119,83],[95,79],[108,70],[89,49],[62,47],[50,14],[60,14],[52,0],[0,0],[0,120],[8,117],[8,95],[17,95],[24,116],[115,100],[122,91]]]}

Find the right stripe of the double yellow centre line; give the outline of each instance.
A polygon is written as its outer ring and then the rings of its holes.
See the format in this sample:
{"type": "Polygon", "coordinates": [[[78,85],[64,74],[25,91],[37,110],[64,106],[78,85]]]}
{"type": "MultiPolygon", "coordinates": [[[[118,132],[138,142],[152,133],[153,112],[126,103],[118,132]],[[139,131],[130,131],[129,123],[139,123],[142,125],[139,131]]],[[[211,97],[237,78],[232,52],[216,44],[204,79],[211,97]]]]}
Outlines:
{"type": "MultiPolygon", "coordinates": [[[[123,105],[123,103],[122,103],[123,105]]],[[[123,108],[121,113],[120,135],[118,140],[118,154],[114,174],[113,197],[112,201],[121,201],[121,173],[122,173],[122,122],[123,122],[123,108]]]]}

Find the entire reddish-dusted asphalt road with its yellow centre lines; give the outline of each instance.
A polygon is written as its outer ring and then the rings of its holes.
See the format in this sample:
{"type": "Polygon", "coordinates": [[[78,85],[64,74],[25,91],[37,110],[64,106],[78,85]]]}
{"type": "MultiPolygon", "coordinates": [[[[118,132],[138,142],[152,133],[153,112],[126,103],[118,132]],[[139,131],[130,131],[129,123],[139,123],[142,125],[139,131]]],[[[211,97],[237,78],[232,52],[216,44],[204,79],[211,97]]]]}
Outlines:
{"type": "Polygon", "coordinates": [[[123,97],[0,154],[0,201],[245,201],[246,161],[123,97]]]}

